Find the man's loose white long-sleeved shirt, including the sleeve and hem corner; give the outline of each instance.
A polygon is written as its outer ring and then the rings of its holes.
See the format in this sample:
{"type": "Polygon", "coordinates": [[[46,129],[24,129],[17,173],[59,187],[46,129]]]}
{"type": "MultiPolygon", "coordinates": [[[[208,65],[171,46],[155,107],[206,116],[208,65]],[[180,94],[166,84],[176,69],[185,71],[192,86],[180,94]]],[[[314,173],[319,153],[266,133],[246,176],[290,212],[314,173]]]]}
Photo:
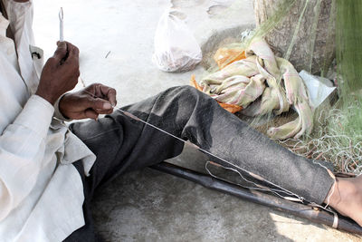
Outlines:
{"type": "Polygon", "coordinates": [[[82,160],[88,175],[95,160],[33,94],[43,58],[31,53],[43,53],[33,47],[32,5],[5,1],[17,55],[0,14],[0,241],[62,241],[82,227],[83,186],[71,163],[82,160]]]}

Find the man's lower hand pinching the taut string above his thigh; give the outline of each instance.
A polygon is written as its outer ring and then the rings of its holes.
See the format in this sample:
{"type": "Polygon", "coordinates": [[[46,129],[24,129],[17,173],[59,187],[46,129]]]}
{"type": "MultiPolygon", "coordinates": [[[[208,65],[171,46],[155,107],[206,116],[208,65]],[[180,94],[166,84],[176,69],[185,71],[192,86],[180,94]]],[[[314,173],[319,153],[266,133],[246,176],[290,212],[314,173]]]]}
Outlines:
{"type": "Polygon", "coordinates": [[[95,83],[80,92],[66,93],[59,102],[59,110],[71,120],[97,120],[99,114],[110,114],[116,104],[116,90],[95,83]]]}

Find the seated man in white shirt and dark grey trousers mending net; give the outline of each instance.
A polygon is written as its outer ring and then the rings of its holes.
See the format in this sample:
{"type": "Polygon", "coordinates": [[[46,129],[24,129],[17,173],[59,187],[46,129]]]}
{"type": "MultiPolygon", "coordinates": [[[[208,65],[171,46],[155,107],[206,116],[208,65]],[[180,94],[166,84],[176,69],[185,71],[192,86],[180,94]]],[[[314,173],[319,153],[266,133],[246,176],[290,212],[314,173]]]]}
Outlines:
{"type": "MultiPolygon", "coordinates": [[[[94,241],[94,189],[175,157],[183,142],[112,113],[116,92],[110,87],[92,84],[69,92],[80,74],[74,45],[59,43],[42,70],[42,51],[33,46],[32,1],[5,0],[1,13],[0,241],[94,241]],[[97,121],[99,114],[110,115],[97,121]],[[63,123],[83,118],[94,121],[73,123],[70,131],[63,123]]],[[[334,179],[328,169],[252,131],[195,89],[171,88],[123,110],[300,198],[329,203],[362,225],[362,178],[334,179]]]]}

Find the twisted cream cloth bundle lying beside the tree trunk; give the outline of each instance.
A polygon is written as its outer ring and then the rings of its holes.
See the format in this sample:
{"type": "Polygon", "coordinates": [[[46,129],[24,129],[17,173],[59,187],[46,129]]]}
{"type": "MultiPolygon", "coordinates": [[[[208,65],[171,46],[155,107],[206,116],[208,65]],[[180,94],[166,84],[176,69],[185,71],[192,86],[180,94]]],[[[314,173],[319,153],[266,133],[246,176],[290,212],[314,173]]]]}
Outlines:
{"type": "Polygon", "coordinates": [[[275,57],[262,39],[252,42],[245,51],[245,57],[206,76],[199,88],[216,101],[240,106],[252,116],[271,111],[279,115],[289,111],[292,106],[299,117],[281,127],[269,129],[268,135],[273,139],[285,140],[310,134],[313,111],[305,85],[293,65],[275,57]],[[253,111],[248,111],[251,103],[253,111]]]}

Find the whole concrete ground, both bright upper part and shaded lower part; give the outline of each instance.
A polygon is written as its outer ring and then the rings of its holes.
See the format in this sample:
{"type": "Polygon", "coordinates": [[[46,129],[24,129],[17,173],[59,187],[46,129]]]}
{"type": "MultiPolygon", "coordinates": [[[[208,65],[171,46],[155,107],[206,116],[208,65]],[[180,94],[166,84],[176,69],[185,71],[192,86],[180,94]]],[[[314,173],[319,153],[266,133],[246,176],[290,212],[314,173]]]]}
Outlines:
{"type": "MultiPolygon", "coordinates": [[[[170,0],[34,0],[37,44],[52,54],[59,38],[58,11],[65,38],[81,49],[81,75],[119,92],[122,105],[167,87],[187,84],[191,73],[162,73],[151,63],[159,16],[170,0]],[[106,55],[108,54],[107,58],[106,55]]],[[[172,0],[205,50],[227,35],[254,24],[252,0],[172,0]],[[210,36],[213,41],[207,42],[210,36]],[[222,36],[222,37],[221,37],[222,36]]],[[[79,88],[79,87],[78,87],[79,88]]],[[[203,169],[203,157],[186,149],[172,160],[203,169]]],[[[358,241],[335,229],[275,212],[184,179],[143,169],[116,179],[94,198],[94,218],[107,241],[358,241]]]]}

